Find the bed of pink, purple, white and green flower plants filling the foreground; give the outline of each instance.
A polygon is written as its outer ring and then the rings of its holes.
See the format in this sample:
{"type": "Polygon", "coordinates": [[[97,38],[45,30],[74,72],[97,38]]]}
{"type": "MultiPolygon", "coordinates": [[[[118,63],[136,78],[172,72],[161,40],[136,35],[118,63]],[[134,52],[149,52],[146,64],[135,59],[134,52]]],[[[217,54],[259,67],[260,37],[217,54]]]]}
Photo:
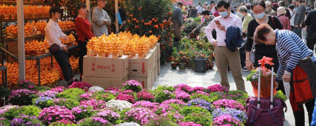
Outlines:
{"type": "Polygon", "coordinates": [[[218,84],[150,91],[135,80],[121,89],[81,82],[51,89],[22,81],[15,88],[12,105],[0,108],[1,126],[242,126],[247,119],[248,95],[218,84]]]}

